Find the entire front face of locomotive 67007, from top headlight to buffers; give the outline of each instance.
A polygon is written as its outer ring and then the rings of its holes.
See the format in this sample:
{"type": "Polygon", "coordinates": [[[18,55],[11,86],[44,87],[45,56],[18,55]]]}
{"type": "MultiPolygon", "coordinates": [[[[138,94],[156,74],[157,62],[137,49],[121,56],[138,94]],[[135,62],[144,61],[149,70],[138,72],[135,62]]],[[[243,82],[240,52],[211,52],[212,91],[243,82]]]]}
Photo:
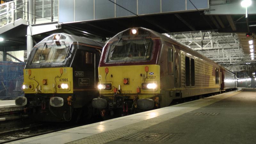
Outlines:
{"type": "Polygon", "coordinates": [[[92,101],[102,116],[159,107],[160,47],[159,38],[143,28],[125,30],[108,41],[99,65],[100,97],[92,101]]]}

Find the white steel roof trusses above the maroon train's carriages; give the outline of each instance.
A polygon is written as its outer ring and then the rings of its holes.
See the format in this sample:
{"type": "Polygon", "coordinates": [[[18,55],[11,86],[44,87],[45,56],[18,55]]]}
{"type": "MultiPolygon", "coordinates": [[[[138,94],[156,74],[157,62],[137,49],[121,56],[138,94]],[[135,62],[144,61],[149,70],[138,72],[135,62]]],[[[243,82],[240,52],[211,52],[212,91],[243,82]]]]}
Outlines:
{"type": "MultiPolygon", "coordinates": [[[[242,45],[241,43],[242,38],[245,37],[245,33],[236,34],[219,33],[215,31],[192,31],[165,33],[164,35],[188,46],[233,72],[245,70],[249,63],[256,64],[255,60],[251,60],[250,51],[249,48],[247,48],[247,45],[242,45]]],[[[244,41],[245,40],[243,40],[243,43],[246,43],[244,41]]]]}

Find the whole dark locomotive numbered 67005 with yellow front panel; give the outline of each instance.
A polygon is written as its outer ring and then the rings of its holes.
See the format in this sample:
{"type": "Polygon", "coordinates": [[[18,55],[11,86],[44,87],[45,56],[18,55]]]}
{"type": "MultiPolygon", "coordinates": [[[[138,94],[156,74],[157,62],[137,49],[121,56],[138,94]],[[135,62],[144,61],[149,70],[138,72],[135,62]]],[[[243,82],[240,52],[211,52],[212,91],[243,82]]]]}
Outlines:
{"type": "Polygon", "coordinates": [[[98,64],[103,43],[53,34],[37,43],[24,69],[24,97],[15,100],[39,121],[89,118],[98,96],[98,64]],[[77,114],[74,116],[74,114],[77,114]]]}

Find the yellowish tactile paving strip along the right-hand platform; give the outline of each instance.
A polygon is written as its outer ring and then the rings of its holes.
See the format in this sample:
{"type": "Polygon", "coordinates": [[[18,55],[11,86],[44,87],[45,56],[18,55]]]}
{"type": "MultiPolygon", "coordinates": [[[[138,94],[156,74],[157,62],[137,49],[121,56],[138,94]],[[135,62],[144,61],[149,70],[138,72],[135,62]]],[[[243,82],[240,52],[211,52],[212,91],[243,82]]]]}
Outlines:
{"type": "MultiPolygon", "coordinates": [[[[221,94],[221,95],[213,96],[213,97],[217,97],[216,99],[207,99],[206,98],[206,99],[201,99],[201,100],[197,100],[197,101],[191,101],[188,103],[184,103],[186,105],[186,107],[183,107],[180,110],[177,110],[177,111],[174,111],[174,112],[171,112],[168,114],[164,114],[162,116],[157,116],[155,118],[147,119],[147,120],[144,120],[141,122],[137,122],[134,124],[126,125],[126,126],[114,129],[114,130],[110,130],[110,131],[102,132],[102,133],[99,133],[96,135],[92,135],[92,136],[86,137],[84,139],[75,140],[75,141],[70,142],[70,144],[84,144],[84,143],[102,144],[102,143],[107,143],[109,141],[121,139],[121,138],[129,136],[131,134],[137,133],[137,132],[139,132],[145,128],[148,128],[150,126],[162,123],[166,120],[172,119],[177,116],[181,116],[185,113],[191,112],[198,108],[208,106],[210,104],[213,104],[217,101],[226,99],[226,98],[233,96],[240,92],[241,91],[230,93],[230,94],[225,94],[225,95],[221,94]]],[[[180,104],[177,107],[182,107],[182,105],[183,104],[180,104]]]]}

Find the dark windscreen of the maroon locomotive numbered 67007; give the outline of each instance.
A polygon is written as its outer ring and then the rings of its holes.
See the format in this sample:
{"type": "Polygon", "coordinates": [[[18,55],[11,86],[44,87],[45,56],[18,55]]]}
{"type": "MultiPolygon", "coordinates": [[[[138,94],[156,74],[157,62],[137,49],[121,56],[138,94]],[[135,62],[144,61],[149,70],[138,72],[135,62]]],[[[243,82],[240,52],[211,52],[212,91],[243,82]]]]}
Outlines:
{"type": "Polygon", "coordinates": [[[107,62],[139,61],[150,57],[153,42],[149,38],[119,39],[109,46],[107,62]]]}

